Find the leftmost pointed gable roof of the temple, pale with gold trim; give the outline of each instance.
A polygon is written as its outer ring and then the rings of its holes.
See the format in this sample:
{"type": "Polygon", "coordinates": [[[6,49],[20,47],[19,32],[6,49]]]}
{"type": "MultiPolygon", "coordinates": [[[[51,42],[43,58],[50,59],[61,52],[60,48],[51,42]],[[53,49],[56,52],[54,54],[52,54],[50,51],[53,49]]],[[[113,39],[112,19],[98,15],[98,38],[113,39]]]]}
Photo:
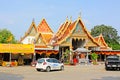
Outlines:
{"type": "Polygon", "coordinates": [[[36,27],[35,22],[33,20],[30,27],[29,27],[29,29],[28,29],[28,31],[25,32],[25,35],[23,37],[21,37],[20,42],[22,40],[24,40],[27,36],[35,36],[36,33],[37,33],[37,27],[36,27]]]}

